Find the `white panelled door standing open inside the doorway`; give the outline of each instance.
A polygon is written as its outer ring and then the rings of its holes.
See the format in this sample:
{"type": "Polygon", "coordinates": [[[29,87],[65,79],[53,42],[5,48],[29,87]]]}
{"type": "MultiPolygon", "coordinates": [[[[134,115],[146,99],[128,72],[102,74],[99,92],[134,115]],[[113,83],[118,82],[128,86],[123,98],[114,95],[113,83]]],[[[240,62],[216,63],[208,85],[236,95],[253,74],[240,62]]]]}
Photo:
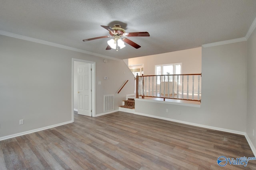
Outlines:
{"type": "Polygon", "coordinates": [[[92,116],[91,64],[78,66],[78,114],[92,116]]]}

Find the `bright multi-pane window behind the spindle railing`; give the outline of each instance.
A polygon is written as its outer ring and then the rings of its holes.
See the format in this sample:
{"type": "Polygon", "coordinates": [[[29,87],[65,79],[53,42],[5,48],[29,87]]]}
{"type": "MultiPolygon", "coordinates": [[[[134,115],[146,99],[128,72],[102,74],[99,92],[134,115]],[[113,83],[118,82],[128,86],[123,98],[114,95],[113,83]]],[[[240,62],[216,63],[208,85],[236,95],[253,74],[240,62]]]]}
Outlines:
{"type": "MultiPolygon", "coordinates": [[[[166,74],[181,74],[181,65],[182,63],[173,63],[173,64],[163,64],[163,65],[156,65],[156,75],[166,75],[166,74]]],[[[161,81],[172,82],[172,76],[164,76],[161,78],[161,81]],[[164,78],[164,79],[163,79],[164,78]]],[[[177,76],[174,76],[174,81],[177,81],[177,76]]],[[[160,84],[160,76],[157,78],[157,84],[160,84]]],[[[180,76],[178,84],[180,84],[180,76]]]]}

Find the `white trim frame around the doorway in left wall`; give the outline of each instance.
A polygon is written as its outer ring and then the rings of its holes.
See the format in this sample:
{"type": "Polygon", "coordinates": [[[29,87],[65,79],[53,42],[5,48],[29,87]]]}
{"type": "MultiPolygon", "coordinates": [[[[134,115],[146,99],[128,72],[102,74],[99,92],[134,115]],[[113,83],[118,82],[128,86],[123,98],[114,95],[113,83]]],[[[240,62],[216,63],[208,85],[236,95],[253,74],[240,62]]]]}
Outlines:
{"type": "Polygon", "coordinates": [[[72,111],[71,111],[71,116],[72,116],[72,122],[74,122],[74,61],[79,61],[79,62],[84,62],[84,63],[90,63],[92,64],[92,117],[95,117],[96,115],[96,100],[95,100],[95,92],[96,92],[96,87],[95,87],[95,62],[94,61],[87,61],[87,60],[82,60],[82,59],[75,59],[72,58],[72,111]]]}

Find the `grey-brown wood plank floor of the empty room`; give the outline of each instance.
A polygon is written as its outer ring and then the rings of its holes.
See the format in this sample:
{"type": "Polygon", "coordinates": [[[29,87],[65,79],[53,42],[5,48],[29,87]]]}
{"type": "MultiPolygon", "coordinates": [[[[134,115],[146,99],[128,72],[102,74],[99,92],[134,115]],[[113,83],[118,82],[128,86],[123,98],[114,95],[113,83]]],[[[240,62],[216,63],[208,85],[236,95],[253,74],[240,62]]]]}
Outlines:
{"type": "Polygon", "coordinates": [[[242,135],[120,111],[0,141],[1,170],[256,169],[220,167],[219,156],[254,157],[242,135]]]}

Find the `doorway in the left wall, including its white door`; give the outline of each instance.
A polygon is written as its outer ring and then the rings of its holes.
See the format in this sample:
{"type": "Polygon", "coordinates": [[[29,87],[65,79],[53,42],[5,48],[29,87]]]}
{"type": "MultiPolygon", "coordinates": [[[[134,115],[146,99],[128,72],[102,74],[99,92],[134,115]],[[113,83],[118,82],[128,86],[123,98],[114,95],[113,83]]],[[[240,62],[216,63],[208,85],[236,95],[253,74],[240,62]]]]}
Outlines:
{"type": "Polygon", "coordinates": [[[72,121],[74,112],[95,117],[95,62],[72,59],[72,121]]]}

